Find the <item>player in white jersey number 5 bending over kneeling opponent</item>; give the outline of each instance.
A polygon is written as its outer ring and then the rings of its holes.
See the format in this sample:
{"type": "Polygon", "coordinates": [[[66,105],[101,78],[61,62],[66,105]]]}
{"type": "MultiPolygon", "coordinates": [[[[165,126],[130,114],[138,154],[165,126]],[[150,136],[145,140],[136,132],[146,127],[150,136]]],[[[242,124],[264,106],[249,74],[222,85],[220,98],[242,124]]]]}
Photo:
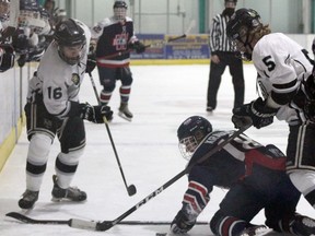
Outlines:
{"type": "Polygon", "coordinates": [[[253,121],[258,129],[272,123],[273,116],[288,122],[287,173],[315,208],[315,123],[306,93],[310,84],[314,88],[313,60],[284,34],[271,33],[252,9],[238,9],[226,33],[238,51],[253,61],[261,92],[261,97],[233,109],[232,121],[236,128],[253,121]]]}

